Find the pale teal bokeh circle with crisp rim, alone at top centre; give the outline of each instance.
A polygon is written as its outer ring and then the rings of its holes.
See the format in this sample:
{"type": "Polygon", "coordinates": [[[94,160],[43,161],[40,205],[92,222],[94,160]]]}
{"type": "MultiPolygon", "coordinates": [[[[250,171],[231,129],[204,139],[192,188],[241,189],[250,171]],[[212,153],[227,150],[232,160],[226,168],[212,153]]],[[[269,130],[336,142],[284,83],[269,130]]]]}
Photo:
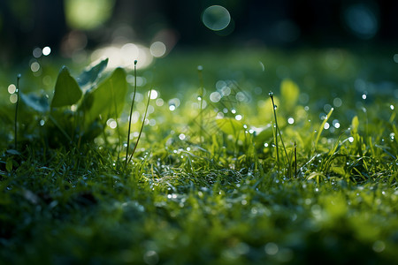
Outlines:
{"type": "Polygon", "coordinates": [[[231,22],[231,15],[221,5],[211,5],[203,11],[202,21],[204,26],[214,31],[223,30],[231,22]]]}

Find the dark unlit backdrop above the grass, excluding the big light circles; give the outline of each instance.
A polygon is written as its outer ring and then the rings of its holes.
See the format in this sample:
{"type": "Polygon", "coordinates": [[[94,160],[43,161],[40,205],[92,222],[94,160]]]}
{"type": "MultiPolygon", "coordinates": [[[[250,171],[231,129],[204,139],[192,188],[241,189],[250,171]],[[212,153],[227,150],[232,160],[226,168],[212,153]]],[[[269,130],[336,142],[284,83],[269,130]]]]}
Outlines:
{"type": "Polygon", "coordinates": [[[148,45],[162,30],[172,35],[177,47],[356,47],[394,45],[398,40],[398,1],[395,0],[115,0],[111,19],[92,29],[68,25],[65,1],[1,0],[2,61],[30,56],[34,47],[44,46],[67,56],[62,47],[65,36],[71,32],[82,35],[84,48],[88,49],[112,42],[115,33],[124,35],[130,42],[148,45]],[[231,14],[233,22],[226,30],[214,32],[204,27],[201,14],[213,4],[226,7],[231,14]],[[348,23],[352,19],[360,29],[369,25],[364,10],[374,19],[374,34],[358,33],[348,23]],[[120,25],[125,30],[119,30],[120,25]]]}

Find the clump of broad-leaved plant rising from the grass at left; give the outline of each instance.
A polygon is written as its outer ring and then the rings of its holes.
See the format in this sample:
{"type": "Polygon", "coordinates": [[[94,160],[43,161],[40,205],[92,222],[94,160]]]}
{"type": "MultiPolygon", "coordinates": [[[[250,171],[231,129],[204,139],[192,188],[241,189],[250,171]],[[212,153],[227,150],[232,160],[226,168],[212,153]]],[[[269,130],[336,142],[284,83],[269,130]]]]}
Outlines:
{"type": "Polygon", "coordinates": [[[110,76],[100,78],[108,59],[82,72],[78,81],[64,66],[58,73],[54,95],[25,94],[18,122],[25,130],[21,141],[45,135],[51,146],[80,145],[92,141],[105,128],[109,118],[117,119],[126,99],[126,72],[117,68],[110,76]]]}

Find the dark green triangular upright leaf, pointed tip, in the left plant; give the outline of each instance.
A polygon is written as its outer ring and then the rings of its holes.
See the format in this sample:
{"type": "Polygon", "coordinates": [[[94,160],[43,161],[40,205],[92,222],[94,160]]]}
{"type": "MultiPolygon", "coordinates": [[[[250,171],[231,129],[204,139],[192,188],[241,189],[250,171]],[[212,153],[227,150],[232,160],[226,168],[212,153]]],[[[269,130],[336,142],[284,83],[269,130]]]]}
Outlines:
{"type": "Polygon", "coordinates": [[[80,100],[81,95],[78,83],[64,66],[57,77],[51,108],[71,106],[80,100]]]}

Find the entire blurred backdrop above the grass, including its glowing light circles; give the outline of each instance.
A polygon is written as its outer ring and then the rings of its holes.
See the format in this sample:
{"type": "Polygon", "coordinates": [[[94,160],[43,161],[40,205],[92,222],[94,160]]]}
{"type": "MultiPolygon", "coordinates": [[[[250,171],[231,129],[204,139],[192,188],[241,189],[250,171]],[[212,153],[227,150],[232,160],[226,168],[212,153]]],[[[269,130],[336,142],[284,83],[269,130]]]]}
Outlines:
{"type": "Polygon", "coordinates": [[[0,1],[4,65],[49,53],[77,63],[119,53],[113,64],[140,57],[145,66],[192,47],[357,49],[397,41],[395,0],[0,1]]]}

